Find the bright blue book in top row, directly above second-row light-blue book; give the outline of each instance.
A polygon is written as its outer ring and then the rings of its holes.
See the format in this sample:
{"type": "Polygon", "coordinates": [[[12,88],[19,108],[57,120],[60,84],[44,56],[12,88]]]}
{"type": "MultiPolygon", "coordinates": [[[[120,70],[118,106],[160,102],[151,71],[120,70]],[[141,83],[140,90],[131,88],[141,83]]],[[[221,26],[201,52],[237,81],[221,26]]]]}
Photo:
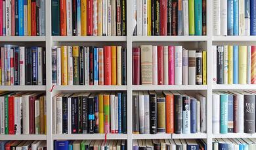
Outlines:
{"type": "MultiPolygon", "coordinates": [[[[238,0],[233,1],[233,35],[239,34],[239,22],[238,22],[238,0]]],[[[234,59],[233,59],[234,61],[234,59]]]]}

